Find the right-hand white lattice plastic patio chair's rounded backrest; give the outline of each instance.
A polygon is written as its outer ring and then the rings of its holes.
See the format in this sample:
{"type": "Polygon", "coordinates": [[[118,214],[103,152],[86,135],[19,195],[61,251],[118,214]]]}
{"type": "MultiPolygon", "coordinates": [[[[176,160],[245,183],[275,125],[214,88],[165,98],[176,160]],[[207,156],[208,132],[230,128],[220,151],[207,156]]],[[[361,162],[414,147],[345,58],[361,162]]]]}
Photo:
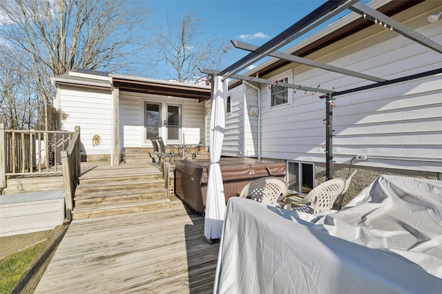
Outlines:
{"type": "Polygon", "coordinates": [[[332,178],[315,187],[308,196],[314,198],[313,213],[332,209],[335,200],[343,193],[345,178],[332,178]]]}

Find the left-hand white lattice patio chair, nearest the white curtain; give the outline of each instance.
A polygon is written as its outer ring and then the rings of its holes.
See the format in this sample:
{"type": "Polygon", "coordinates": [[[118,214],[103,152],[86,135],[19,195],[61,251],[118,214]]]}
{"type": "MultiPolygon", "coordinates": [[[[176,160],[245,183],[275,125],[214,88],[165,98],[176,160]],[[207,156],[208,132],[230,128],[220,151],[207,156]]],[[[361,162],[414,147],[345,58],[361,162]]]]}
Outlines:
{"type": "Polygon", "coordinates": [[[282,178],[265,177],[249,182],[242,188],[240,197],[261,202],[262,204],[275,207],[278,200],[282,200],[287,194],[287,183],[282,178]]]}

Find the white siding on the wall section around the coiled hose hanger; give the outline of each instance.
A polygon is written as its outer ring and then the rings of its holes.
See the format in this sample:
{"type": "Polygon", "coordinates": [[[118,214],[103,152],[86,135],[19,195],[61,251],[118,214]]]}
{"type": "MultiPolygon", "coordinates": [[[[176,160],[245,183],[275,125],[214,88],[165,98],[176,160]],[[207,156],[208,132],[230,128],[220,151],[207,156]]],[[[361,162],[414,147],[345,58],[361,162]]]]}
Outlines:
{"type": "Polygon", "coordinates": [[[92,90],[78,87],[59,87],[59,107],[68,114],[61,129],[73,132],[80,127],[81,143],[86,155],[111,154],[112,149],[112,96],[111,90],[92,90]],[[93,146],[98,135],[102,143],[93,146]]]}

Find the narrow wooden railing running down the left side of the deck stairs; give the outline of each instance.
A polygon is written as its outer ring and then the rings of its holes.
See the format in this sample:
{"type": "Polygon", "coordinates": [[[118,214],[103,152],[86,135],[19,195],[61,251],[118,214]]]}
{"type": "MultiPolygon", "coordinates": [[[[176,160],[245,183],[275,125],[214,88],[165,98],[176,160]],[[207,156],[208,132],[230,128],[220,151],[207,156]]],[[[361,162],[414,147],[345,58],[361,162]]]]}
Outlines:
{"type": "Polygon", "coordinates": [[[61,151],[61,166],[63,167],[64,178],[64,199],[66,205],[66,218],[72,220],[74,209],[75,189],[79,182],[81,173],[81,141],[80,127],[75,127],[75,134],[70,141],[68,149],[61,151]]]}

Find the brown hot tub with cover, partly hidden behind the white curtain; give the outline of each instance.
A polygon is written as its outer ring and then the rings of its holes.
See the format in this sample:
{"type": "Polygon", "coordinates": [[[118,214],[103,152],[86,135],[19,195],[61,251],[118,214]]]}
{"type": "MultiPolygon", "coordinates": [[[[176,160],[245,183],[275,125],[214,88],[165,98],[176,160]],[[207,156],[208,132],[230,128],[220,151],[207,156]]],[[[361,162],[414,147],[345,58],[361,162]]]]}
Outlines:
{"type": "MultiPolygon", "coordinates": [[[[204,213],[206,206],[209,165],[208,159],[180,160],[175,165],[175,194],[198,213],[204,213]]],[[[273,176],[285,177],[285,161],[221,158],[220,167],[226,202],[247,183],[269,176],[269,171],[273,176]]]]}

